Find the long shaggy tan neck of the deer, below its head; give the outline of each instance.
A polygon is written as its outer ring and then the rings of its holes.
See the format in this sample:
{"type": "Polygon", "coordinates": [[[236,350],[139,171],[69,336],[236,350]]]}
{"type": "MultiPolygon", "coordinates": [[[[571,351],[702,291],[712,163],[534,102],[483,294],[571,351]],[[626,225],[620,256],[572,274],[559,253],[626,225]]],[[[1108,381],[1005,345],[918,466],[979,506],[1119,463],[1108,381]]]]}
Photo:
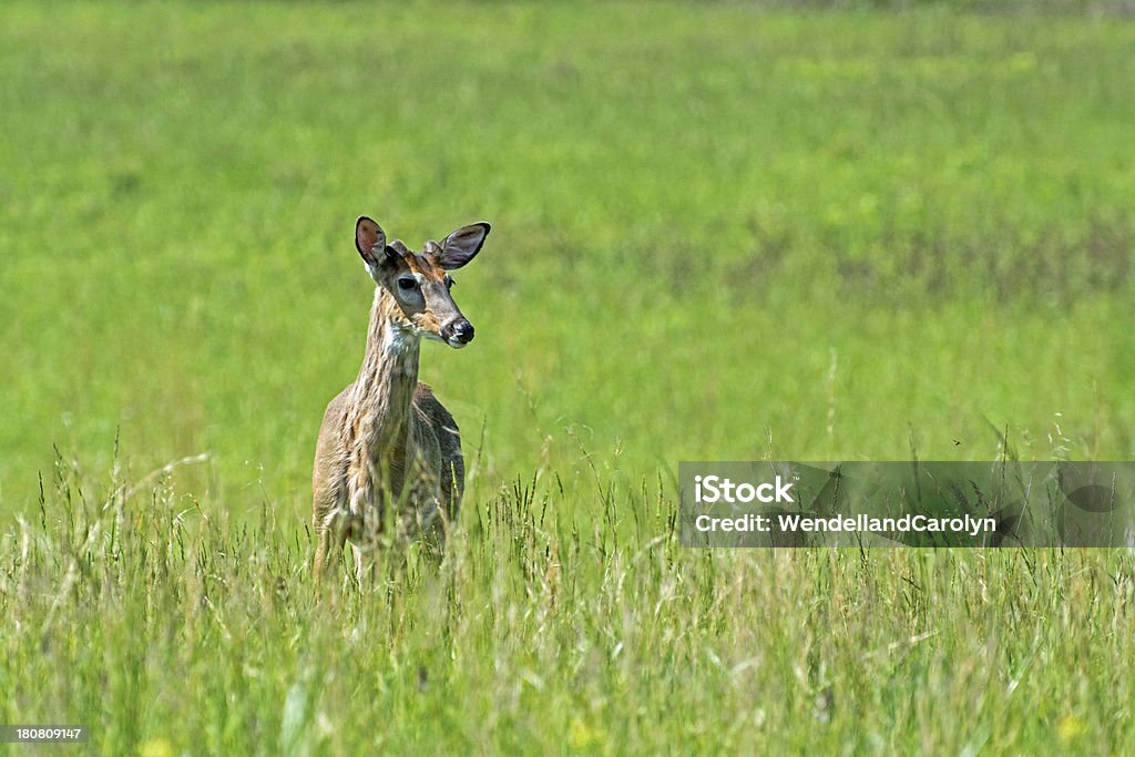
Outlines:
{"type": "Polygon", "coordinates": [[[396,311],[394,297],[377,288],[348,419],[356,443],[371,457],[405,447],[418,386],[420,337],[401,326],[396,311]]]}

